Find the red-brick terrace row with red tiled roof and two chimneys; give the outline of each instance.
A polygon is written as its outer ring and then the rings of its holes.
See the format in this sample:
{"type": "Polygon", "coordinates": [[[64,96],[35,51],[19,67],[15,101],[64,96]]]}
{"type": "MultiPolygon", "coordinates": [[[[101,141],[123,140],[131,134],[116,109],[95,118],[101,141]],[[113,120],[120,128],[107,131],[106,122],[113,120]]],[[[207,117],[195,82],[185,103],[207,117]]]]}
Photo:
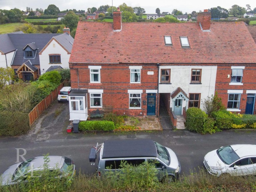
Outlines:
{"type": "Polygon", "coordinates": [[[70,120],[157,116],[160,103],[184,115],[215,91],[228,110],[255,114],[256,44],[243,22],[211,23],[209,12],[198,23],[122,23],[119,10],[113,24],[80,21],[69,67],[70,120]]]}

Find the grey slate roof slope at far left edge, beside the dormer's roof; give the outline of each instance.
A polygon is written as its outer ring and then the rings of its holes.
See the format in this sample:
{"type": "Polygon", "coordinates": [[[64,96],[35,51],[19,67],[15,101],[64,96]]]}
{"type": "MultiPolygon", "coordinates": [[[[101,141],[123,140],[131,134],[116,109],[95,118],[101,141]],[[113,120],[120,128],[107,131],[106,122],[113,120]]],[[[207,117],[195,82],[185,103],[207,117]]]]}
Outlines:
{"type": "MultiPolygon", "coordinates": [[[[23,32],[18,31],[18,32],[9,33],[9,34],[23,34],[23,32]]],[[[3,53],[9,53],[16,50],[11,39],[9,38],[9,34],[0,35],[0,51],[3,53]]]]}

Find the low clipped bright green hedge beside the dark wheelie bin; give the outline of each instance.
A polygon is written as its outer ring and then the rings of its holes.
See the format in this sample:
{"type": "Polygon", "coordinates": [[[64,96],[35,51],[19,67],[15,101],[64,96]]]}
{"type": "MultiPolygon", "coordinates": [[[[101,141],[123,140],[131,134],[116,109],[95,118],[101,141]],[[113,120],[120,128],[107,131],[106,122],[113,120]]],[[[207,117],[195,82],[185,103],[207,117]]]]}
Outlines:
{"type": "Polygon", "coordinates": [[[81,121],[78,128],[80,131],[112,131],[115,129],[115,125],[112,121],[81,121]]]}

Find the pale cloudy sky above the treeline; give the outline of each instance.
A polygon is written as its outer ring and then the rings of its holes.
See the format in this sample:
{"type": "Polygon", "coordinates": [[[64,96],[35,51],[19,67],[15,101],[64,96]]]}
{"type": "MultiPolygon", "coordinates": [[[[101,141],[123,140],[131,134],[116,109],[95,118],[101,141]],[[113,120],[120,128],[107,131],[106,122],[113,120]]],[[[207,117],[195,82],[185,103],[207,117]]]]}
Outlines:
{"type": "MultiPolygon", "coordinates": [[[[126,3],[130,7],[141,7],[144,8],[147,14],[153,14],[156,8],[159,8],[161,12],[172,12],[173,9],[182,11],[183,13],[191,13],[192,11],[198,12],[199,10],[210,9],[211,7],[220,6],[225,9],[231,8],[232,5],[236,4],[241,7],[245,7],[249,4],[251,9],[256,7],[256,0],[113,0],[113,6],[118,7],[119,5],[126,3]]],[[[0,9],[13,9],[18,8],[26,11],[26,7],[30,7],[33,10],[36,8],[47,9],[48,5],[54,4],[61,11],[66,9],[76,10],[87,10],[87,8],[96,7],[101,5],[112,5],[112,0],[33,0],[33,1],[22,1],[22,0],[0,0],[0,9]]]]}

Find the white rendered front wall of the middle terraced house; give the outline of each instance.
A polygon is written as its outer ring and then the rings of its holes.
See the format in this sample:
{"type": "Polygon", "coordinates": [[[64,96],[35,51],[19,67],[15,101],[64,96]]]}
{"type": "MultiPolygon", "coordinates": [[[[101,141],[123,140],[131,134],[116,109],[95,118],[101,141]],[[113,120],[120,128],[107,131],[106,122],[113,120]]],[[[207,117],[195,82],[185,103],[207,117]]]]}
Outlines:
{"type": "MultiPolygon", "coordinates": [[[[189,93],[201,93],[200,108],[203,110],[202,100],[211,97],[215,93],[215,82],[217,66],[160,66],[159,83],[161,69],[171,69],[171,84],[159,84],[159,93],[172,93],[180,87],[189,97],[189,93]],[[191,70],[202,69],[201,83],[191,83],[191,70]]],[[[170,98],[170,107],[173,103],[170,98]]],[[[186,102],[182,102],[182,107],[186,106],[186,102]]]]}

